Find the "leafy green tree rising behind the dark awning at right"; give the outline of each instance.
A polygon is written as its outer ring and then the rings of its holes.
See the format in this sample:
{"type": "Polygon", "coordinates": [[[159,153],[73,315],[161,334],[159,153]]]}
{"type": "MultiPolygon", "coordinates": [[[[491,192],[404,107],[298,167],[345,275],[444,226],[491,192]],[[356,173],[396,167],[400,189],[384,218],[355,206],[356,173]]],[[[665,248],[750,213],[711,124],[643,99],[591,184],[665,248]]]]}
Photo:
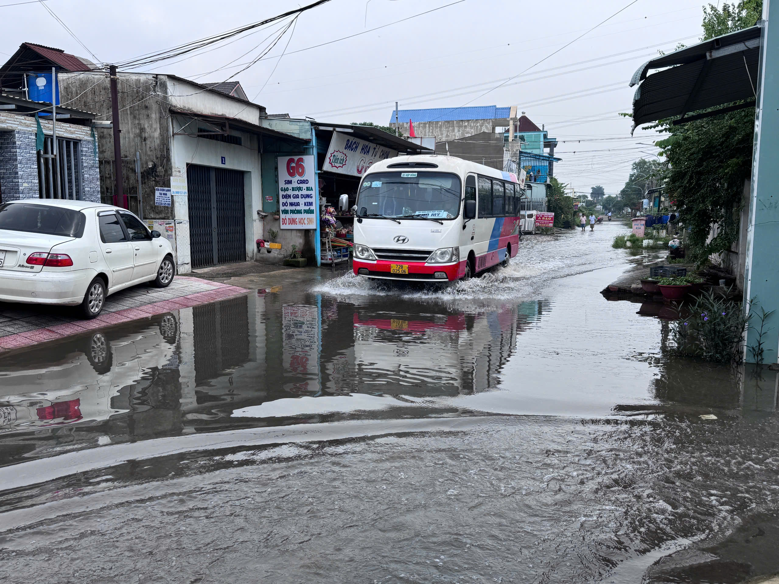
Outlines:
{"type": "MultiPolygon", "coordinates": [[[[753,26],[762,11],[762,0],[726,3],[721,9],[705,6],[702,40],[753,26]]],[[[749,107],[687,124],[661,120],[654,126],[670,134],[655,145],[668,161],[664,186],[690,228],[688,257],[697,262],[730,249],[738,239],[744,181],[752,170],[754,123],[755,111],[749,107]],[[714,225],[717,237],[707,241],[714,225]]]]}

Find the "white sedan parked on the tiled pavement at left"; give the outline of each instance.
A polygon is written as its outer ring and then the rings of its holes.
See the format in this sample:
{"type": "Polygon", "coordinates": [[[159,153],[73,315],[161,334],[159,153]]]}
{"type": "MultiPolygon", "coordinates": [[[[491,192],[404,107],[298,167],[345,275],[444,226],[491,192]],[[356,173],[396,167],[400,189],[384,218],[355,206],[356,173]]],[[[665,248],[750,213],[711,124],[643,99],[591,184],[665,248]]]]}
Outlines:
{"type": "Polygon", "coordinates": [[[171,242],[126,209],[27,199],[0,205],[0,301],[79,306],[100,315],[108,294],[170,285],[171,242]]]}

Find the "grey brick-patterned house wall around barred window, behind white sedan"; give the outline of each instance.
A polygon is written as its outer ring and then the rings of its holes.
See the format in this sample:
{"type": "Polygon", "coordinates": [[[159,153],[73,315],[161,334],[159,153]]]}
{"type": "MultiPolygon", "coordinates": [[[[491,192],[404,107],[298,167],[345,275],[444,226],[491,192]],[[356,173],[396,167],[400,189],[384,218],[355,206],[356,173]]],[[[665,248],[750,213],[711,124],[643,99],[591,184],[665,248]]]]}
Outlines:
{"type": "MultiPolygon", "coordinates": [[[[41,119],[41,129],[45,135],[51,136],[51,121],[41,119]]],[[[39,197],[36,132],[35,118],[0,111],[0,192],[3,202],[39,197]]],[[[82,199],[100,201],[100,180],[91,129],[59,121],[57,135],[59,138],[79,140],[82,199]]]]}

